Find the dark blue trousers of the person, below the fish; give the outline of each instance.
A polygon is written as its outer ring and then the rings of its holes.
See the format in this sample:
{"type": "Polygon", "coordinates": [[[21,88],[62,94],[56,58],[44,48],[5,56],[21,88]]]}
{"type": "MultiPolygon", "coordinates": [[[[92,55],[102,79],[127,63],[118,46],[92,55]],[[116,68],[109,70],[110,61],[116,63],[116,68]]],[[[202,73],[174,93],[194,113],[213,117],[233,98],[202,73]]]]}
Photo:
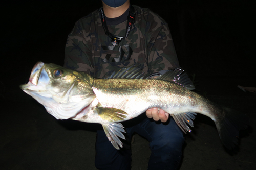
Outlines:
{"type": "MultiPolygon", "coordinates": [[[[151,156],[148,169],[178,169],[183,132],[173,118],[167,124],[145,118],[133,127],[126,128],[128,141],[134,132],[145,137],[150,142],[151,156]]],[[[135,141],[136,142],[136,141],[135,141]]],[[[131,149],[126,147],[116,150],[106,138],[103,130],[97,131],[95,166],[98,169],[131,169],[131,149]]]]}

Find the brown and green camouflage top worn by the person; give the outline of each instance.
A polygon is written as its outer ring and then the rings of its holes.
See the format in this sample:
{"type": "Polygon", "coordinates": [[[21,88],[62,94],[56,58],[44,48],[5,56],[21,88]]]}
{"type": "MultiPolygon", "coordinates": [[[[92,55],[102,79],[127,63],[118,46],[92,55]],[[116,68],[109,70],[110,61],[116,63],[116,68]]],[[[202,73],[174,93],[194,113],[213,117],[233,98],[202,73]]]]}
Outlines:
{"type": "MultiPolygon", "coordinates": [[[[78,20],[67,39],[64,66],[97,78],[135,62],[144,66],[146,74],[179,67],[167,23],[149,9],[133,7],[135,23],[117,47],[104,32],[99,10],[78,20]]],[[[113,35],[124,36],[126,26],[127,20],[108,25],[108,29],[113,35]]]]}

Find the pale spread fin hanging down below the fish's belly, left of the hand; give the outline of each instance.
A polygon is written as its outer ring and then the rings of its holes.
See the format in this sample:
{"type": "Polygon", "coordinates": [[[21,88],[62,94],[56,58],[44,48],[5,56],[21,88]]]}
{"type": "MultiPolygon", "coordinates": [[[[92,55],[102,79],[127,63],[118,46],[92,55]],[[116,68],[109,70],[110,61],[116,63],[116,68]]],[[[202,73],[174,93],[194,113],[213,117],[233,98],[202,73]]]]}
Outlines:
{"type": "Polygon", "coordinates": [[[122,148],[123,144],[120,141],[120,138],[125,139],[122,132],[124,131],[124,127],[120,123],[110,123],[110,124],[102,124],[103,129],[106,133],[106,137],[108,137],[109,141],[113,144],[113,146],[119,150],[119,146],[122,148]],[[119,145],[119,146],[118,146],[119,145]]]}

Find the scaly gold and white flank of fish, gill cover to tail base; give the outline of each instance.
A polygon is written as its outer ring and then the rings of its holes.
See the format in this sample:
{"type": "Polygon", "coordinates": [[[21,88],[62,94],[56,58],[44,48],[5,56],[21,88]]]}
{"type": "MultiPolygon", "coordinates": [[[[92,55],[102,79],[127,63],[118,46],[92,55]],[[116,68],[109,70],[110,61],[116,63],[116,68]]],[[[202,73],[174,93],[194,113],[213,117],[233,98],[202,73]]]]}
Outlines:
{"type": "Polygon", "coordinates": [[[161,108],[170,114],[195,111],[207,115],[211,106],[199,94],[162,80],[97,79],[93,83],[93,91],[102,107],[118,108],[128,113],[124,120],[136,117],[152,107],[161,108]]]}

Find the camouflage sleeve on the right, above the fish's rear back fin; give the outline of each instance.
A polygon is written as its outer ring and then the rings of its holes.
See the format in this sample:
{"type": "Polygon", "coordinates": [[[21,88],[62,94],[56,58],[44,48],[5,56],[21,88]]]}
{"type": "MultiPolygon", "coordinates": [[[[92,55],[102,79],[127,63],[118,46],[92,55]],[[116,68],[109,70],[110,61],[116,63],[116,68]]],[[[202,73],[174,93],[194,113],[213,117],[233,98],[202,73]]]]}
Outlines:
{"type": "Polygon", "coordinates": [[[168,25],[158,15],[153,16],[147,42],[148,69],[153,73],[178,68],[179,62],[168,25]]]}

